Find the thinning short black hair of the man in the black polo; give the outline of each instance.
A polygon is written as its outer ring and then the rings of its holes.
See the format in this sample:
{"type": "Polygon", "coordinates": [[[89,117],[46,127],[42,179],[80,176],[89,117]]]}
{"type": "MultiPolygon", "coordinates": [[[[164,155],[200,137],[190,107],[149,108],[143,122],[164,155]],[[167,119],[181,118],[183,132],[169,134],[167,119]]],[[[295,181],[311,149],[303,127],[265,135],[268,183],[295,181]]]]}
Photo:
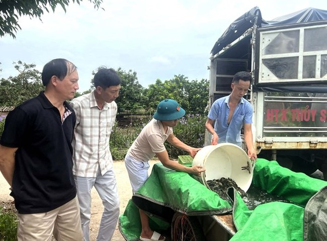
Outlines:
{"type": "Polygon", "coordinates": [[[75,71],[77,67],[70,61],[64,58],[52,59],[46,63],[42,70],[42,84],[47,86],[53,75],[57,76],[60,81],[64,79],[67,74],[75,71]]]}

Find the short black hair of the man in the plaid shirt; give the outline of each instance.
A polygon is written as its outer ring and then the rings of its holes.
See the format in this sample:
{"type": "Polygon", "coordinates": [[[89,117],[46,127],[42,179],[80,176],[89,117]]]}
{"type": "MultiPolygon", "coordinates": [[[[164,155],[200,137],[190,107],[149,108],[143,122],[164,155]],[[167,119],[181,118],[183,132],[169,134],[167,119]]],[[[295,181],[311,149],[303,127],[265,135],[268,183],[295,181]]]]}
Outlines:
{"type": "Polygon", "coordinates": [[[118,86],[121,79],[118,73],[113,68],[100,67],[98,72],[94,75],[94,87],[98,86],[107,89],[110,86],[118,86]]]}

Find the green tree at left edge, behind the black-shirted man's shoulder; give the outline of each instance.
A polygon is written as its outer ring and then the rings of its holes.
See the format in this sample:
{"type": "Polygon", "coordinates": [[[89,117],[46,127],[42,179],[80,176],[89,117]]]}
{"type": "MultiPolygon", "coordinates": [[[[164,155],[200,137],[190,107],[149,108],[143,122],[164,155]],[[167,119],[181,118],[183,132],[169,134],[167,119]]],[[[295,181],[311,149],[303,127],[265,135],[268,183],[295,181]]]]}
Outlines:
{"type": "Polygon", "coordinates": [[[18,106],[44,90],[41,72],[35,69],[35,64],[22,61],[14,64],[19,74],[0,79],[0,106],[18,106]]]}

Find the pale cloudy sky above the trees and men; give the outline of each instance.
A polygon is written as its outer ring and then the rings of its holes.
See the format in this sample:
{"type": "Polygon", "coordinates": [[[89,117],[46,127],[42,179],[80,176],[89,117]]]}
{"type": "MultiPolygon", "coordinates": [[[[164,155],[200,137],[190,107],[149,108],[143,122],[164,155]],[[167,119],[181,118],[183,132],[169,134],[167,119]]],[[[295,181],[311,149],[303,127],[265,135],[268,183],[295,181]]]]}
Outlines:
{"type": "Polygon", "coordinates": [[[327,10],[325,0],[104,0],[104,10],[70,2],[66,13],[58,6],[42,22],[21,17],[16,38],[0,38],[0,78],[17,76],[19,60],[42,71],[51,59],[66,58],[78,68],[78,92],[91,87],[99,66],[136,71],[144,88],[178,74],[209,79],[215,42],[252,8],[268,21],[305,8],[327,10]]]}

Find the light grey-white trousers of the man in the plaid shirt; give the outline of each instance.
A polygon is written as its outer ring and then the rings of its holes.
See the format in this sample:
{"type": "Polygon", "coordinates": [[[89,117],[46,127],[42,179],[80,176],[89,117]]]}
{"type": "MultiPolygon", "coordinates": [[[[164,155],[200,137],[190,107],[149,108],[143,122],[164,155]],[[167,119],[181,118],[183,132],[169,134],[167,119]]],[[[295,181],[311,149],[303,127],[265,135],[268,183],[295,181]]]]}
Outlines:
{"type": "Polygon", "coordinates": [[[84,240],[90,240],[91,189],[93,187],[97,190],[104,206],[97,241],[111,240],[119,218],[120,204],[117,181],[113,169],[111,168],[103,176],[99,169],[95,178],[74,176],[74,180],[84,240]]]}

